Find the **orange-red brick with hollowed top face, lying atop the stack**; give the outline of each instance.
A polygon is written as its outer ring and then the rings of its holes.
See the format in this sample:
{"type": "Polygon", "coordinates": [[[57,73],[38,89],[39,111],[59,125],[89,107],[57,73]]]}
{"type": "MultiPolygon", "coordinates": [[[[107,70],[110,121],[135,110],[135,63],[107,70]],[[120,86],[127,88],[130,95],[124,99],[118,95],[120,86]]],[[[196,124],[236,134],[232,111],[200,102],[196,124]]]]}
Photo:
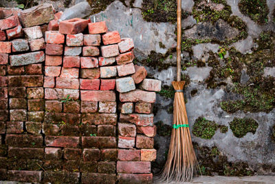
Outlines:
{"type": "Polygon", "coordinates": [[[88,25],[88,20],[74,18],[59,23],[59,32],[62,34],[78,34],[83,32],[88,25]]]}

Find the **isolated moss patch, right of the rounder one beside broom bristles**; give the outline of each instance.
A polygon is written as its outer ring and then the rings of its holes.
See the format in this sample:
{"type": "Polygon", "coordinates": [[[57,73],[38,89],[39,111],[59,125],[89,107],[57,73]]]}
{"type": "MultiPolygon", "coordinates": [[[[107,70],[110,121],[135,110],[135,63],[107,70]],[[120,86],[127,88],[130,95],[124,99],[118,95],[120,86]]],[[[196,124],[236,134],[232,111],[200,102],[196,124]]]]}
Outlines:
{"type": "Polygon", "coordinates": [[[248,132],[255,134],[259,126],[254,119],[248,118],[234,118],[233,121],[231,121],[229,124],[234,136],[238,138],[245,136],[248,132]]]}

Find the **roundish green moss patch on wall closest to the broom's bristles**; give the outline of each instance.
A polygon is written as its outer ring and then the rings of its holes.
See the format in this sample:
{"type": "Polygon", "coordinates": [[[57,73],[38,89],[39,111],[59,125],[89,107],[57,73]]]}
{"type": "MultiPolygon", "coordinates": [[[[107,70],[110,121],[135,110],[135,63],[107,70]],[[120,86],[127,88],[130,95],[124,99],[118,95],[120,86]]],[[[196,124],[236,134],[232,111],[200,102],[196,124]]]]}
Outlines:
{"type": "Polygon", "coordinates": [[[203,117],[196,119],[193,125],[192,134],[201,139],[211,139],[217,130],[217,124],[214,121],[209,121],[203,117]]]}

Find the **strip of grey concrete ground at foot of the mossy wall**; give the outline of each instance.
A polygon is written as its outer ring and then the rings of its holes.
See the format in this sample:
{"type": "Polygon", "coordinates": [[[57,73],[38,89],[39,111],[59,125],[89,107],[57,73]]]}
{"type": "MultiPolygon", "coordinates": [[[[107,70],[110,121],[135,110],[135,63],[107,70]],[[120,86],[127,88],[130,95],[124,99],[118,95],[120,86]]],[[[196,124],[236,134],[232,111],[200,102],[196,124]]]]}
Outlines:
{"type": "MultiPolygon", "coordinates": [[[[275,184],[275,176],[243,176],[243,177],[228,177],[228,176],[199,176],[193,178],[192,182],[184,182],[184,184],[275,184]]],[[[155,184],[164,184],[156,183],[155,184]]],[[[169,184],[176,184],[171,182],[169,184]]]]}

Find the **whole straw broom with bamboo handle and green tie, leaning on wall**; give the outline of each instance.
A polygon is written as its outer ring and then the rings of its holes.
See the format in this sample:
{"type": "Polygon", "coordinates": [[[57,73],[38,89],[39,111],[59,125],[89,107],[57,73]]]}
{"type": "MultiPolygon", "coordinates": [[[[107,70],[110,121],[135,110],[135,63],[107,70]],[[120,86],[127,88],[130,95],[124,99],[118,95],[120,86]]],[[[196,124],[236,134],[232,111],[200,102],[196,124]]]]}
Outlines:
{"type": "Polygon", "coordinates": [[[173,130],[167,161],[159,178],[162,182],[190,181],[199,170],[184,103],[184,83],[181,81],[181,0],[177,0],[177,81],[172,82],[175,89],[173,130]]]}

